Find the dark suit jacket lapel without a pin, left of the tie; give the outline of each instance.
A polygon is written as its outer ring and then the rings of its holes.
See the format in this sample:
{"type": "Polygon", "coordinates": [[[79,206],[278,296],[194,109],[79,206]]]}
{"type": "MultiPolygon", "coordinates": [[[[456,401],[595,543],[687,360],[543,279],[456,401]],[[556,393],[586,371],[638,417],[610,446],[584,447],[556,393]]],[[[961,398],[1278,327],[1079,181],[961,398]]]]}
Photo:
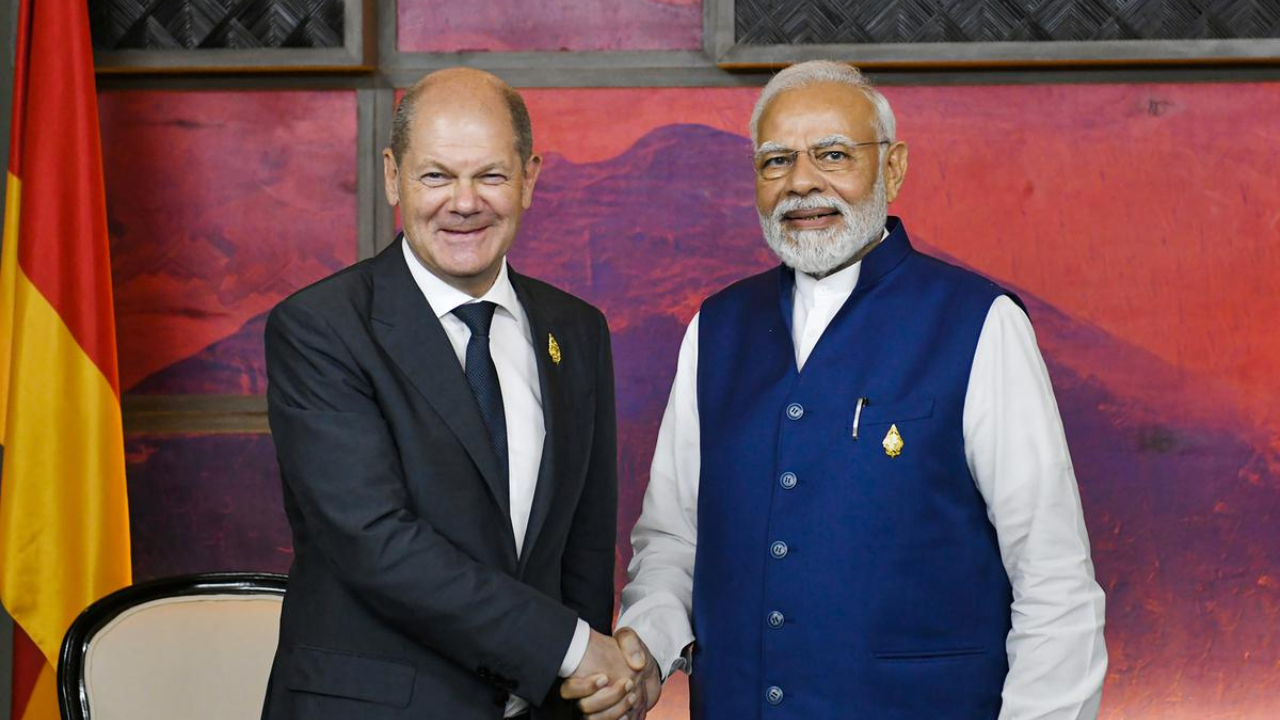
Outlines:
{"type": "Polygon", "coordinates": [[[506,532],[515,552],[516,538],[511,529],[511,496],[506,473],[489,445],[480,409],[444,327],[404,264],[401,242],[403,240],[393,243],[375,260],[374,334],[480,469],[480,475],[507,519],[499,527],[506,532]]]}

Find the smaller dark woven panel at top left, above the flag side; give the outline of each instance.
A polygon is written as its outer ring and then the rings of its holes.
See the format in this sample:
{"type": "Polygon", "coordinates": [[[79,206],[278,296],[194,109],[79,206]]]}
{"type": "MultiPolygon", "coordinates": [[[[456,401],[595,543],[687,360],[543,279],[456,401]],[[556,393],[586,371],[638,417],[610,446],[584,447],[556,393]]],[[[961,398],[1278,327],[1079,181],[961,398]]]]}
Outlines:
{"type": "Polygon", "coordinates": [[[342,47],[343,0],[90,0],[97,50],[342,47]]]}

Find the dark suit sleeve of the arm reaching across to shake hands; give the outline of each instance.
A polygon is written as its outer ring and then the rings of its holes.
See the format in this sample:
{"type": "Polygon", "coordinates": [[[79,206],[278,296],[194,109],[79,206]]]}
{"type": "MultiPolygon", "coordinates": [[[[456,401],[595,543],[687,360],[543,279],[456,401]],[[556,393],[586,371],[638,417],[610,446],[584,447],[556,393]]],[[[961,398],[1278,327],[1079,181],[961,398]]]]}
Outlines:
{"type": "Polygon", "coordinates": [[[266,368],[280,474],[340,582],[435,652],[520,697],[545,697],[575,612],[475,561],[408,509],[372,387],[324,319],[278,306],[266,368]]]}

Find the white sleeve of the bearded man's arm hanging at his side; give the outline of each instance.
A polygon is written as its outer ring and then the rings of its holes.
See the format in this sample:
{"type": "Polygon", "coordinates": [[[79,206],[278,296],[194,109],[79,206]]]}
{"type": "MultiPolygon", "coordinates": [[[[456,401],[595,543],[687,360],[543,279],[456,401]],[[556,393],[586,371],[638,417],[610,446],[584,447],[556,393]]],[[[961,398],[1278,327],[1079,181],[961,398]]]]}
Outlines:
{"type": "Polygon", "coordinates": [[[1107,669],[1105,601],[1048,370],[1007,297],[978,340],[964,438],[1014,591],[1000,720],[1092,720],[1107,669]]]}

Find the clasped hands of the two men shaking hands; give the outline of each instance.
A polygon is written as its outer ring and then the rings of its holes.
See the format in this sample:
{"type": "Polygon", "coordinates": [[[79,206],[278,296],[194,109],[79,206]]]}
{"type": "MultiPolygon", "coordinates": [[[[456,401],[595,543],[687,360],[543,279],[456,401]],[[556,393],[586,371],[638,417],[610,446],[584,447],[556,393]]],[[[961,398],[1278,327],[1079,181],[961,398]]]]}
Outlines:
{"type": "Polygon", "coordinates": [[[631,628],[612,638],[591,630],[586,655],[561,684],[561,697],[576,700],[586,720],[643,720],[659,694],[658,662],[631,628]]]}

